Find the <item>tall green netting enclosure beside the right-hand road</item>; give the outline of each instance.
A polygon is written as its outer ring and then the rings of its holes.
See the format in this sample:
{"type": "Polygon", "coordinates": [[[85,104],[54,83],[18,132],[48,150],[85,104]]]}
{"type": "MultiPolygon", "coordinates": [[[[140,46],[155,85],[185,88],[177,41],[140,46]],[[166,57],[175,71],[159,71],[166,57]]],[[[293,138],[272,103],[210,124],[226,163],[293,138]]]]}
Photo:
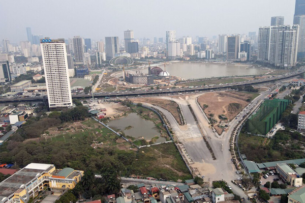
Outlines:
{"type": "Polygon", "coordinates": [[[289,102],[287,99],[265,100],[258,111],[248,119],[247,131],[266,135],[281,119],[289,102]]]}

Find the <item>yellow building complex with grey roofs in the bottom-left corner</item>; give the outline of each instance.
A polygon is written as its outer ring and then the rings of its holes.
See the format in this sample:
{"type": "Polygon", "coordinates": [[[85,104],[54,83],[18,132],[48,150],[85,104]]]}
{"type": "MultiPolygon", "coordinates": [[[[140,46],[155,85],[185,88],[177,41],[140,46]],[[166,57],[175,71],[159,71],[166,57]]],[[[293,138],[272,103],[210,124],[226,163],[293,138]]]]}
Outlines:
{"type": "Polygon", "coordinates": [[[74,188],[84,171],[56,169],[53,164],[31,163],[0,183],[0,203],[26,203],[44,187],[61,192],[74,188]]]}

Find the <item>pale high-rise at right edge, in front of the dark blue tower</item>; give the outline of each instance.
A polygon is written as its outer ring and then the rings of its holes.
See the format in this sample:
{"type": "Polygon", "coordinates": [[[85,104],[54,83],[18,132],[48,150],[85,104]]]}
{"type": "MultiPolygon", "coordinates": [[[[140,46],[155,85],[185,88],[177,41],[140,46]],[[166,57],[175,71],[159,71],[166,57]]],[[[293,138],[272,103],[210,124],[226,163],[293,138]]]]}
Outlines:
{"type": "Polygon", "coordinates": [[[305,57],[305,15],[295,15],[293,24],[299,25],[297,57],[305,57]]]}

